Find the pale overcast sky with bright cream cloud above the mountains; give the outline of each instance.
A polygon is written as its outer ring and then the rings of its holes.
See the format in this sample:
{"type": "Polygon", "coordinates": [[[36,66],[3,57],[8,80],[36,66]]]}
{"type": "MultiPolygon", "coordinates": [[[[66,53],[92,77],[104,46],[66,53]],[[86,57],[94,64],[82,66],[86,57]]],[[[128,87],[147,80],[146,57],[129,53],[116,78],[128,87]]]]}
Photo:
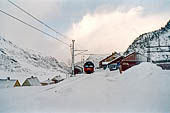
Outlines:
{"type": "MultiPolygon", "coordinates": [[[[157,30],[170,20],[170,0],[11,0],[68,38],[48,30],[7,0],[6,11],[60,40],[76,40],[77,49],[88,53],[125,51],[142,33],[157,30]]],[[[40,51],[68,62],[70,49],[0,13],[0,35],[22,48],[40,51]],[[64,56],[64,57],[63,57],[64,56]]]]}

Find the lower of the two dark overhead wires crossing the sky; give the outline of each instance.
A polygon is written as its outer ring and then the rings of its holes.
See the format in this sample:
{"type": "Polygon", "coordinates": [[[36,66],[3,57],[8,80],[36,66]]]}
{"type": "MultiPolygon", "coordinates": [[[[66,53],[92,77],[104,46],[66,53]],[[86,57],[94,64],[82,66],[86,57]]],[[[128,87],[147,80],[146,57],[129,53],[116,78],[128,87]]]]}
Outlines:
{"type": "Polygon", "coordinates": [[[17,21],[19,21],[19,22],[21,22],[21,23],[23,23],[23,24],[25,24],[25,25],[27,25],[27,26],[29,26],[29,27],[31,27],[31,28],[33,28],[33,29],[35,29],[35,30],[37,30],[37,31],[39,31],[39,32],[41,32],[41,33],[43,33],[43,34],[45,34],[45,35],[47,35],[47,36],[49,36],[49,37],[51,37],[51,38],[54,38],[54,39],[58,40],[59,42],[61,42],[61,43],[63,43],[63,44],[65,44],[65,45],[67,45],[67,46],[70,47],[69,44],[63,42],[62,40],[60,40],[60,39],[58,39],[58,38],[50,35],[49,33],[46,33],[46,32],[43,31],[43,30],[40,30],[40,29],[36,28],[35,26],[33,26],[33,25],[31,25],[31,24],[28,24],[28,23],[22,21],[21,19],[15,17],[15,16],[12,16],[11,14],[6,13],[5,11],[3,11],[3,10],[1,10],[1,9],[0,9],[0,12],[3,13],[3,14],[5,14],[5,15],[7,15],[7,16],[9,16],[9,17],[11,17],[11,18],[13,18],[13,19],[15,19],[15,20],[17,20],[17,21]]]}

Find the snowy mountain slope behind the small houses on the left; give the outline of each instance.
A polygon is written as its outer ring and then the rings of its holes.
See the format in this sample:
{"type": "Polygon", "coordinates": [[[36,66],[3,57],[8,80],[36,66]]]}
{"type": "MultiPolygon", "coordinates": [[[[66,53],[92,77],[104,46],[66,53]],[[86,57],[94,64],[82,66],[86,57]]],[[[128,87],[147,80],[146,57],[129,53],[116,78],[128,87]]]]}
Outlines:
{"type": "Polygon", "coordinates": [[[64,68],[54,57],[26,51],[0,36],[0,78],[43,76],[47,79],[58,73],[67,73],[64,68]]]}

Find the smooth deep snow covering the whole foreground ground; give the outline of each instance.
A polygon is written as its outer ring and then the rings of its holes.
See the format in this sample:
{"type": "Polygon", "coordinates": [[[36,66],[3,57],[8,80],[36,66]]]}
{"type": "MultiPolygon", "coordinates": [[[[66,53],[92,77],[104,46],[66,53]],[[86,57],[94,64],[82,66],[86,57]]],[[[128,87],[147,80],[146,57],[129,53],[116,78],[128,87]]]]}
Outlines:
{"type": "Polygon", "coordinates": [[[142,63],[50,86],[0,89],[0,113],[170,113],[170,71],[142,63]]]}

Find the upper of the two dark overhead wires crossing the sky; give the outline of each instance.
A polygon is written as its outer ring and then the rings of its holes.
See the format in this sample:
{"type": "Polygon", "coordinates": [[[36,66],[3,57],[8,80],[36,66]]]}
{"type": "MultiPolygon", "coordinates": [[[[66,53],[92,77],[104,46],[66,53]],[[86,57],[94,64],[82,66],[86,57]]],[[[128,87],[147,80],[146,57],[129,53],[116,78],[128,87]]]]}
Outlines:
{"type": "Polygon", "coordinates": [[[24,10],[23,8],[21,8],[20,6],[18,6],[17,4],[15,4],[14,2],[8,0],[8,2],[10,2],[12,5],[14,5],[15,7],[17,7],[18,9],[20,9],[21,11],[23,11],[24,13],[26,13],[27,15],[31,16],[32,18],[34,18],[35,20],[37,20],[39,23],[43,24],[44,26],[46,26],[47,28],[49,28],[50,30],[54,31],[55,33],[59,34],[60,36],[68,39],[66,36],[64,36],[63,34],[61,34],[60,32],[56,31],[55,29],[53,29],[52,27],[50,27],[49,25],[47,25],[46,23],[44,23],[43,21],[41,21],[40,19],[38,19],[37,17],[33,16],[32,14],[30,14],[29,12],[27,12],[26,10],[24,10]]]}

